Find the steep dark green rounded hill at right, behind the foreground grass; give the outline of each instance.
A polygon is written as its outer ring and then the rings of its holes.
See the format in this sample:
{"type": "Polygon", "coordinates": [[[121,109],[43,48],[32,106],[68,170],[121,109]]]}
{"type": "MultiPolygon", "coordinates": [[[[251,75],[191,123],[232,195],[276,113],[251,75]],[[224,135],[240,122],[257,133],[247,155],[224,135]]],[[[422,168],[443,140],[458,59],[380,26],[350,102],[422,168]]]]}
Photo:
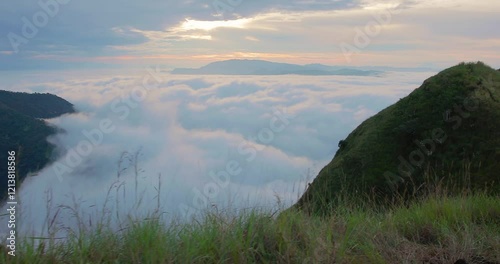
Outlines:
{"type": "Polygon", "coordinates": [[[500,72],[461,63],[427,79],[340,141],[295,206],[324,214],[340,192],[394,197],[421,186],[426,170],[500,191],[500,72]]]}

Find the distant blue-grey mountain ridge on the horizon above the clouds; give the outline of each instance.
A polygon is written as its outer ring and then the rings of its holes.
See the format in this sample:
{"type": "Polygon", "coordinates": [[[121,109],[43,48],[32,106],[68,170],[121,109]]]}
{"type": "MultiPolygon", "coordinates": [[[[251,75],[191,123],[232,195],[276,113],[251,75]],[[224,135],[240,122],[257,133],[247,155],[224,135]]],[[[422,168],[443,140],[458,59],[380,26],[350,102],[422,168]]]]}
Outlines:
{"type": "Polygon", "coordinates": [[[198,69],[177,68],[172,74],[204,74],[204,75],[354,75],[377,76],[383,73],[379,70],[363,70],[323,64],[297,65],[264,60],[225,60],[212,62],[198,69]]]}

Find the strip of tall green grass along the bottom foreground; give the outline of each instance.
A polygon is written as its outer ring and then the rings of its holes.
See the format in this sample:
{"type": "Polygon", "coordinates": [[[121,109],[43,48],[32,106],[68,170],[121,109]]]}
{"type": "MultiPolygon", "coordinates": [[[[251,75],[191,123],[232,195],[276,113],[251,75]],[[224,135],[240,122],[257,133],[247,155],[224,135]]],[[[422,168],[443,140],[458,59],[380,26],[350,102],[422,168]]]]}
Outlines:
{"type": "MultiPolygon", "coordinates": [[[[213,208],[167,224],[162,213],[138,219],[130,212],[119,231],[107,217],[92,226],[78,219],[64,241],[19,237],[16,256],[3,248],[0,263],[500,263],[500,198],[437,190],[383,210],[347,196],[329,217],[213,208]]],[[[51,234],[65,228],[46,221],[51,234]]]]}

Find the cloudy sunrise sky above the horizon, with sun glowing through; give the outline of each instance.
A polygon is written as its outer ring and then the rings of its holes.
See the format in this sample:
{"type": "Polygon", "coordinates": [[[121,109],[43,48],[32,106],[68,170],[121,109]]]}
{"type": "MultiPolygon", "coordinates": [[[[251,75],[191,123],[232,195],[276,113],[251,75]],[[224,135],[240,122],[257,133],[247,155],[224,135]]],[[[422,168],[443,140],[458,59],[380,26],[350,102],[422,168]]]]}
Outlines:
{"type": "Polygon", "coordinates": [[[0,3],[0,69],[298,64],[500,67],[496,0],[21,0],[0,3]]]}

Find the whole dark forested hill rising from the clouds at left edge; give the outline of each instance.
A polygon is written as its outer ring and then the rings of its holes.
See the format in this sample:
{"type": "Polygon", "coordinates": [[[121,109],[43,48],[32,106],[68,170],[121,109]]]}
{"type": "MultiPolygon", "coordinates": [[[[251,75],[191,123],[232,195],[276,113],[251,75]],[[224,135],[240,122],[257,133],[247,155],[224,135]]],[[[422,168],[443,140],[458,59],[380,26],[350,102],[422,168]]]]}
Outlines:
{"type": "Polygon", "coordinates": [[[7,193],[8,151],[16,152],[19,184],[30,172],[42,169],[51,159],[53,146],[47,137],[56,129],[38,118],[75,112],[68,101],[52,94],[0,91],[0,200],[7,193]]]}

